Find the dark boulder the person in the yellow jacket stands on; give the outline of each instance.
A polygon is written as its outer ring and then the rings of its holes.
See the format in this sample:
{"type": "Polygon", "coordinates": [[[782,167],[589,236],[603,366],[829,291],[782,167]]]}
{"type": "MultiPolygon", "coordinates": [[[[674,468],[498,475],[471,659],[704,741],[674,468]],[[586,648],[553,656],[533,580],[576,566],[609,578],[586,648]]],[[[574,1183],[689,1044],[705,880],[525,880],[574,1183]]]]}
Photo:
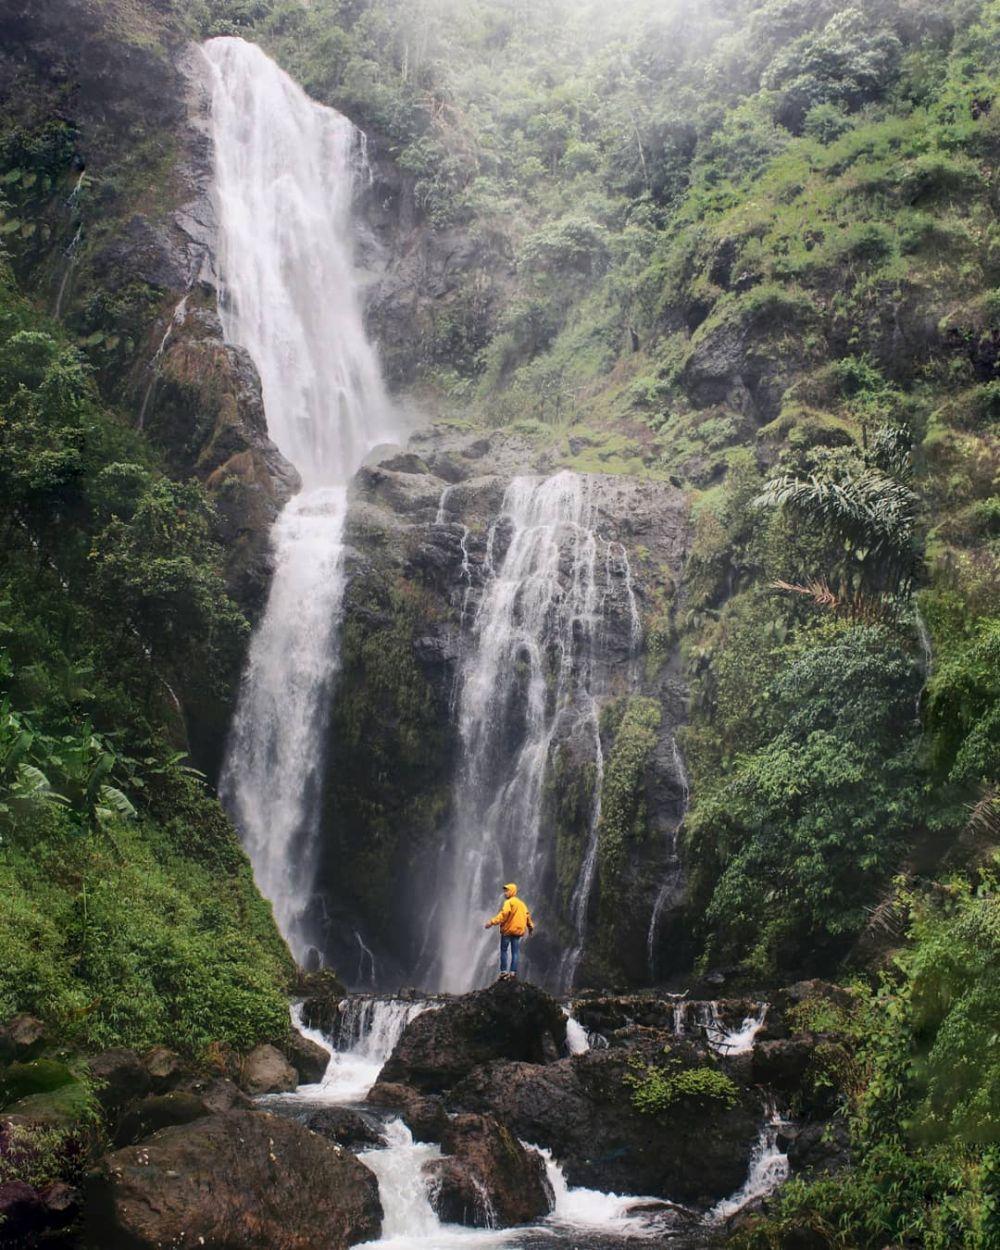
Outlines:
{"type": "Polygon", "coordinates": [[[411,1020],[379,1081],[438,1094],[490,1060],[542,1064],[546,1050],[558,1054],[565,1040],[555,999],[522,981],[498,981],[411,1020]]]}

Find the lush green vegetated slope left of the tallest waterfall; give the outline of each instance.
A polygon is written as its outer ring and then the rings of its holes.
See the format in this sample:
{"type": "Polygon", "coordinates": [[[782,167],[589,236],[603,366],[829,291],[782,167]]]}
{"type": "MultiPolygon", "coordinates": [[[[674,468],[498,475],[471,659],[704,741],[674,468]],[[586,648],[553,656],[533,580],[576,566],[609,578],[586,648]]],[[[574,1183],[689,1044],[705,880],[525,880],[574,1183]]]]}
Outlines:
{"type": "Polygon", "coordinates": [[[179,698],[231,688],[246,634],[211,508],[6,274],[0,481],[0,1019],[194,1056],[280,1038],[288,954],[179,749],[179,698]]]}

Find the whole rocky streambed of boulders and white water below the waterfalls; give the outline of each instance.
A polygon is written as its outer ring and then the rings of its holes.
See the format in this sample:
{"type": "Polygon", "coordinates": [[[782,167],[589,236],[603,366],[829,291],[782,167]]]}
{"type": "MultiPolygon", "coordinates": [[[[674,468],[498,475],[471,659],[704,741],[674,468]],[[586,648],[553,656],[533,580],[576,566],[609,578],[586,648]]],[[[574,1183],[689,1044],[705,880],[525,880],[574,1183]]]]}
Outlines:
{"type": "MultiPolygon", "coordinates": [[[[304,1031],[281,1050],[225,1056],[211,1075],[164,1048],[90,1056],[90,1161],[55,1188],[0,1185],[5,1236],[50,1244],[62,1229],[64,1245],[101,1250],[720,1244],[789,1170],[844,1161],[810,1076],[818,1045],[838,1041],[792,1026],[802,1001],[838,992],[562,1005],[518,982],[431,1000],[326,985],[305,1004],[325,1034],[300,1008],[304,1031]],[[792,1108],[795,1125],[778,1115],[792,1108]],[[101,1139],[111,1149],[95,1158],[101,1139]]],[[[52,1058],[36,1021],[4,1039],[9,1161],[39,1128],[72,1121],[84,1066],[52,1058]]]]}

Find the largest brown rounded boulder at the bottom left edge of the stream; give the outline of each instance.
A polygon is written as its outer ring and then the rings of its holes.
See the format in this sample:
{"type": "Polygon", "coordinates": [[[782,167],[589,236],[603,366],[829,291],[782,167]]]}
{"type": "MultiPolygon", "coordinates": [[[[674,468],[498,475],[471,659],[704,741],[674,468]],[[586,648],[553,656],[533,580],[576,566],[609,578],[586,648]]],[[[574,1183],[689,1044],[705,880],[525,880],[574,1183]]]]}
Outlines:
{"type": "Polygon", "coordinates": [[[164,1129],[108,1155],[91,1176],[84,1224],[95,1250],[344,1250],[380,1230],[374,1174],[264,1111],[164,1129]]]}

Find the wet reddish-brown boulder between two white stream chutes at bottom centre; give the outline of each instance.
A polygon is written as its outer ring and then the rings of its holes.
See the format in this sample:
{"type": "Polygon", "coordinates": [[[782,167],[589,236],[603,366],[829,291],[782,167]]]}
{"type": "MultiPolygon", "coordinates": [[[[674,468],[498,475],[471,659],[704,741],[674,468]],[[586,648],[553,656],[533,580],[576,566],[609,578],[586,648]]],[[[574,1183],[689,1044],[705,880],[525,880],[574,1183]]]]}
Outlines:
{"type": "Polygon", "coordinates": [[[424,1165],[431,1205],[446,1224],[511,1228],[548,1215],[545,1164],[491,1115],[458,1115],[441,1138],[442,1159],[424,1165]]]}

